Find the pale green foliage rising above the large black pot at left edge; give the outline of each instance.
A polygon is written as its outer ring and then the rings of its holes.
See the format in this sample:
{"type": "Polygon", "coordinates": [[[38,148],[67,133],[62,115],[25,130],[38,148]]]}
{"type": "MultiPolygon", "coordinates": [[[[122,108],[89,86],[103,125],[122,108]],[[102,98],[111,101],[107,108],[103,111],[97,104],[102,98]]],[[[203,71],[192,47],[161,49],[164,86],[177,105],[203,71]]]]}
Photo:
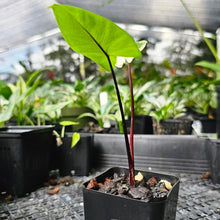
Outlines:
{"type": "Polygon", "coordinates": [[[32,73],[26,81],[19,75],[15,85],[2,81],[0,95],[4,97],[4,105],[0,112],[0,126],[11,121],[13,125],[45,125],[46,121],[59,117],[58,111],[68,102],[58,102],[57,98],[55,103],[48,98],[51,95],[48,91],[54,88],[50,82],[41,85],[42,71],[32,73]]]}

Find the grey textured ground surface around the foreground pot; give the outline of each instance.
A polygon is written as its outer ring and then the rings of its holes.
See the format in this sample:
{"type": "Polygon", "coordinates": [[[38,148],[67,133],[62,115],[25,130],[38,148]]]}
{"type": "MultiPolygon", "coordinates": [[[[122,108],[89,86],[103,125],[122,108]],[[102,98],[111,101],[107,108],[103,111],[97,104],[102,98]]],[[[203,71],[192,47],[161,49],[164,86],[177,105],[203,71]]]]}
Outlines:
{"type": "MultiPolygon", "coordinates": [[[[47,194],[42,187],[31,194],[0,203],[0,220],[83,220],[82,183],[90,177],[73,177],[74,184],[60,184],[59,193],[47,194]]],[[[220,184],[198,175],[181,175],[177,220],[220,220],[220,184]]]]}

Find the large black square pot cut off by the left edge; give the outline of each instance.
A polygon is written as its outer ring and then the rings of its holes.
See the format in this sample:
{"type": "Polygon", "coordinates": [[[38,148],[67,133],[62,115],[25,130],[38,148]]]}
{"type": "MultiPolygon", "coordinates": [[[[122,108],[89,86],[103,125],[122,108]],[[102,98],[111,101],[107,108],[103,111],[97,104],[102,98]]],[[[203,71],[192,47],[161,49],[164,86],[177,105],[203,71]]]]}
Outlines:
{"type": "Polygon", "coordinates": [[[0,190],[23,196],[47,181],[53,126],[0,128],[0,190]]]}

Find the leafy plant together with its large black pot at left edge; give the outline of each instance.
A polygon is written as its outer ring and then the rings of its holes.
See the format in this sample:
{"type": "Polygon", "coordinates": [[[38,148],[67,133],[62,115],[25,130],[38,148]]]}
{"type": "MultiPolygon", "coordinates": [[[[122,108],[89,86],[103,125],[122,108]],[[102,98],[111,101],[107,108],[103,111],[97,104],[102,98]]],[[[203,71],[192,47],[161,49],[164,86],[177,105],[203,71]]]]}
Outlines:
{"type": "Polygon", "coordinates": [[[0,186],[15,196],[41,186],[49,174],[54,127],[32,126],[39,122],[34,116],[39,100],[32,95],[39,88],[40,73],[32,73],[26,81],[19,76],[15,85],[1,82],[5,99],[0,126],[11,119],[14,124],[0,128],[0,186]]]}

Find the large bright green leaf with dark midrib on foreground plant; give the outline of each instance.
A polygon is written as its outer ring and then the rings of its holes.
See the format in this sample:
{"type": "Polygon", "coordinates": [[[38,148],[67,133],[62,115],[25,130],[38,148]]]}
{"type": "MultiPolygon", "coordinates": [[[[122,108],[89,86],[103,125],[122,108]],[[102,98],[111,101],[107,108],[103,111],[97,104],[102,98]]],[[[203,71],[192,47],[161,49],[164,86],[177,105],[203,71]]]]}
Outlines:
{"type": "Polygon", "coordinates": [[[134,39],[107,18],[68,5],[54,4],[50,8],[69,46],[104,69],[111,70],[107,56],[113,68],[117,56],[141,58],[134,39]]]}

